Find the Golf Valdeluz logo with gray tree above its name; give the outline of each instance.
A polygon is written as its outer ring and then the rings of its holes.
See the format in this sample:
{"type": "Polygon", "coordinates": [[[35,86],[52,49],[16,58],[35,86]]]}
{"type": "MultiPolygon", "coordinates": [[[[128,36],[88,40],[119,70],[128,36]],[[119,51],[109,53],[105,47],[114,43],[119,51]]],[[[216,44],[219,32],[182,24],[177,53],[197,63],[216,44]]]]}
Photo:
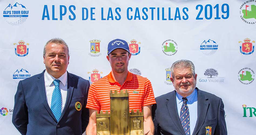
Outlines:
{"type": "Polygon", "coordinates": [[[204,71],[204,76],[199,77],[199,82],[219,82],[223,83],[225,81],[224,77],[218,77],[219,73],[216,69],[210,68],[204,71]],[[207,77],[208,76],[208,77],[207,77]],[[215,76],[215,77],[214,77],[215,76]]]}

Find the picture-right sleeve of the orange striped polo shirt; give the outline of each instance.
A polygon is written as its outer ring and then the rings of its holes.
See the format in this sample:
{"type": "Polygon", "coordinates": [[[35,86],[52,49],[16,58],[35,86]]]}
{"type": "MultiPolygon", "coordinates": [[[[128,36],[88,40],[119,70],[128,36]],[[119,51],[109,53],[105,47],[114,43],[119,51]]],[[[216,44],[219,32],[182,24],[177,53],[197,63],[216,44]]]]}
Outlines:
{"type": "Polygon", "coordinates": [[[145,94],[142,100],[142,106],[156,104],[153,88],[149,79],[146,79],[145,81],[144,90],[145,90],[145,94]]]}

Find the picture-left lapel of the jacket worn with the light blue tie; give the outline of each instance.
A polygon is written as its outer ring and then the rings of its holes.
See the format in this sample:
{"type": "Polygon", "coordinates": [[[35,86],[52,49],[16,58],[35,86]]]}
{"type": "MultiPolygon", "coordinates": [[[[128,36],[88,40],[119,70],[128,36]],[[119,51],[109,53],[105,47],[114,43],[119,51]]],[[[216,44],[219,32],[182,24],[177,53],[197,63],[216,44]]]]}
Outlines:
{"type": "Polygon", "coordinates": [[[45,70],[43,71],[43,73],[38,75],[38,80],[37,80],[38,91],[40,93],[40,97],[43,101],[43,105],[45,106],[45,109],[48,111],[50,116],[57,122],[57,120],[54,117],[52,110],[50,109],[48,102],[46,100],[47,98],[46,98],[46,93],[45,93],[45,79],[43,76],[44,72],[45,72],[45,70]]]}

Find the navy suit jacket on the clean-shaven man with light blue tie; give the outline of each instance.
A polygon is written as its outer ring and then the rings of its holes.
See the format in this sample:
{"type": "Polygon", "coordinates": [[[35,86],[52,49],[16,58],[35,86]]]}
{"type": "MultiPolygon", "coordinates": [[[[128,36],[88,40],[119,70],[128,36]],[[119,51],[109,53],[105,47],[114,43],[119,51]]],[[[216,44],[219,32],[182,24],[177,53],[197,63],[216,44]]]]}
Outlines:
{"type": "Polygon", "coordinates": [[[89,81],[68,73],[67,99],[57,122],[46,100],[44,72],[19,82],[12,123],[22,135],[82,135],[89,122],[89,81]],[[76,102],[82,104],[80,111],[76,102]]]}

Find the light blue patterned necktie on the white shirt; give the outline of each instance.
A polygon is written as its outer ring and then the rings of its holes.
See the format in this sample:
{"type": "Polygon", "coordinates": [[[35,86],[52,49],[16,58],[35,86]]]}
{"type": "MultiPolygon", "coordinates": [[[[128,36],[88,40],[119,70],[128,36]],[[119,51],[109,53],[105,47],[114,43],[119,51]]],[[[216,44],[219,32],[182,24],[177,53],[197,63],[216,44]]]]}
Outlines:
{"type": "Polygon", "coordinates": [[[61,115],[61,93],[60,93],[60,80],[53,80],[55,88],[52,93],[51,110],[56,120],[59,121],[61,115]]]}

